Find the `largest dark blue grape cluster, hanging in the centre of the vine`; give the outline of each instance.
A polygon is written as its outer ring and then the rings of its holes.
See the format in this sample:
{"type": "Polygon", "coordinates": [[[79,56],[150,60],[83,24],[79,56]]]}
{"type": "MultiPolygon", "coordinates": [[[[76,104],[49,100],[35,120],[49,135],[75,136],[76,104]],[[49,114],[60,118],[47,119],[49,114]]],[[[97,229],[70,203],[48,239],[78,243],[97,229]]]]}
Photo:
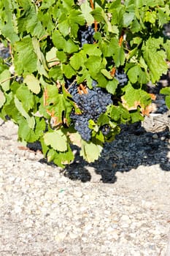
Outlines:
{"type": "MultiPolygon", "coordinates": [[[[92,130],[88,127],[88,121],[92,119],[97,121],[101,113],[107,110],[107,105],[112,104],[111,94],[107,91],[96,87],[96,81],[93,80],[93,89],[89,89],[87,94],[79,94],[77,83],[72,83],[68,87],[69,93],[72,94],[72,99],[76,102],[82,113],[77,115],[74,110],[71,113],[71,118],[74,121],[74,128],[80,133],[83,140],[89,141],[92,130]]],[[[109,127],[103,127],[101,132],[107,135],[109,127]]]]}

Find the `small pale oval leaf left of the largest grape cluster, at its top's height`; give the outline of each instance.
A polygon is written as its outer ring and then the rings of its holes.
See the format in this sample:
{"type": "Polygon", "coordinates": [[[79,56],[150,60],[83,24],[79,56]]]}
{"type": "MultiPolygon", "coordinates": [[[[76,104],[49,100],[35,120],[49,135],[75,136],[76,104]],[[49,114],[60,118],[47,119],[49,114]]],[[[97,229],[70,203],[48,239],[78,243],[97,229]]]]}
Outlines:
{"type": "Polygon", "coordinates": [[[34,94],[39,94],[39,92],[41,91],[39,80],[36,79],[34,75],[26,75],[26,78],[24,78],[23,83],[26,83],[28,89],[34,92],[34,94]]]}

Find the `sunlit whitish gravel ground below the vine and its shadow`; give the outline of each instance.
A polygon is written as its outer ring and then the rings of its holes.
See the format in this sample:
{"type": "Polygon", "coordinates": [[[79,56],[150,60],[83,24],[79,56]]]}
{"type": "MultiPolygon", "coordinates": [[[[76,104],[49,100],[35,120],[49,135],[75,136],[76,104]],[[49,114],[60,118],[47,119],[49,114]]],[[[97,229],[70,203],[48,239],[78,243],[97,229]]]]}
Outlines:
{"type": "Polygon", "coordinates": [[[170,171],[139,165],[109,184],[87,165],[90,181],[72,181],[0,124],[1,256],[166,255],[170,171]]]}

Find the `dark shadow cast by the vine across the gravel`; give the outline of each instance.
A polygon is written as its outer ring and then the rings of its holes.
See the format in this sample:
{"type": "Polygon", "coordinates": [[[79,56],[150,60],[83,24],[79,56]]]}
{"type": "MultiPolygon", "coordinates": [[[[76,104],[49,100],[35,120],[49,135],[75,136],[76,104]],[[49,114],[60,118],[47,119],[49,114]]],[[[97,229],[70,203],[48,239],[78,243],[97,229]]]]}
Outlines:
{"type": "Polygon", "coordinates": [[[128,172],[139,165],[160,165],[162,170],[169,171],[169,130],[156,134],[144,130],[136,132],[138,130],[135,125],[124,126],[120,135],[117,135],[112,143],[105,145],[101,157],[92,164],[85,162],[79,156],[77,148],[74,163],[63,170],[64,176],[87,182],[93,180],[93,175],[99,175],[101,178],[96,177],[96,180],[115,183],[115,173],[128,172]]]}

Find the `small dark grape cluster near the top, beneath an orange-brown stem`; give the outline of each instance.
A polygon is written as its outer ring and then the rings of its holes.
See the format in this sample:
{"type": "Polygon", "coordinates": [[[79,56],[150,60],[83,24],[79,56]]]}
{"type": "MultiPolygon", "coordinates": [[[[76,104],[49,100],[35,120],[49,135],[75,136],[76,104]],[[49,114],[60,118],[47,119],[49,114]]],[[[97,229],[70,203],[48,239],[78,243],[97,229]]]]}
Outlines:
{"type": "Polygon", "coordinates": [[[92,26],[82,26],[78,31],[78,39],[81,46],[85,44],[93,44],[94,29],[92,26]]]}

